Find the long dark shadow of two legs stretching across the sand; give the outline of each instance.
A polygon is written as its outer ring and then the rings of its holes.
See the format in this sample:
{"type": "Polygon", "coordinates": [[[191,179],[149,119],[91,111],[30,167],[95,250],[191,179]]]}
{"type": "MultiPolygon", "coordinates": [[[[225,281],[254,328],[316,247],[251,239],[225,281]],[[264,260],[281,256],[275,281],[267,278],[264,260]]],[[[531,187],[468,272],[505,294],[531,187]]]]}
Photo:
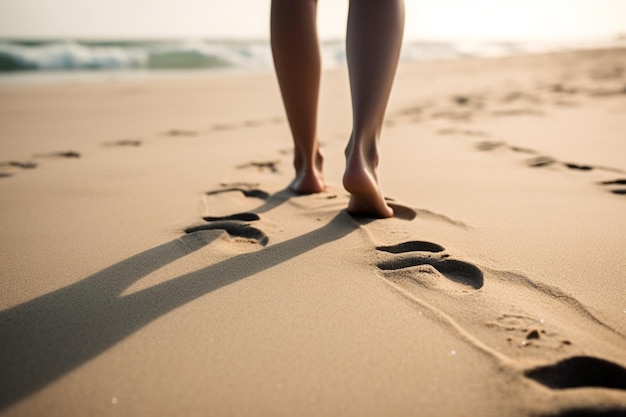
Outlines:
{"type": "Polygon", "coordinates": [[[340,239],[361,224],[342,211],[328,224],[302,236],[121,296],[136,281],[215,239],[215,233],[191,233],[0,312],[0,409],[61,378],[175,308],[340,239]]]}

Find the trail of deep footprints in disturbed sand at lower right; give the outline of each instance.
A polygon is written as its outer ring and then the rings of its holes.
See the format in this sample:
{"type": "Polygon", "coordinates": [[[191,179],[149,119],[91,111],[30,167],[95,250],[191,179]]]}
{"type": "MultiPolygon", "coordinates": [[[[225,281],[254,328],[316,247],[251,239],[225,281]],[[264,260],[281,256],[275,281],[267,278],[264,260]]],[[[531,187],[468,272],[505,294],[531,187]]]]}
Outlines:
{"type": "MultiPolygon", "coordinates": [[[[626,367],[596,357],[623,358],[626,336],[568,294],[519,274],[456,260],[436,243],[407,241],[375,249],[382,255],[376,267],[383,280],[502,366],[517,369],[520,377],[555,392],[626,391],[626,367]]],[[[584,406],[587,397],[577,401],[584,406]]],[[[617,407],[616,414],[591,415],[626,415],[621,402],[611,407],[617,407]]],[[[557,415],[570,411],[577,415],[571,404],[557,415]]]]}

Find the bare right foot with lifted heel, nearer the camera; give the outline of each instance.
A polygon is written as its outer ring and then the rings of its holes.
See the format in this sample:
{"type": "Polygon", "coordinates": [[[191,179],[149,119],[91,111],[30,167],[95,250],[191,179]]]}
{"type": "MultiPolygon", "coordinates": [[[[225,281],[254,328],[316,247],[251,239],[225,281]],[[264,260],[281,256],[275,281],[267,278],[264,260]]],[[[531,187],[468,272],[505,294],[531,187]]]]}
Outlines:
{"type": "Polygon", "coordinates": [[[373,154],[368,159],[369,161],[360,152],[346,150],[343,186],[351,194],[348,213],[377,219],[393,217],[393,209],[387,205],[378,185],[378,157],[373,154]]]}

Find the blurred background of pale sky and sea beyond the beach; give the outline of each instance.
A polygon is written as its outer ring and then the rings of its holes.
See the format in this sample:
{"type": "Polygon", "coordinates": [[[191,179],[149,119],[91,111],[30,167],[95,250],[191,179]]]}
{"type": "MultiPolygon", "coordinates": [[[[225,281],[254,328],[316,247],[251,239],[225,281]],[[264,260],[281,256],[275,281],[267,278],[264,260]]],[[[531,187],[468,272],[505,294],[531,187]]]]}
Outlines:
{"type": "MultiPolygon", "coordinates": [[[[0,0],[0,83],[267,71],[270,0],[0,0]]],[[[624,0],[406,0],[405,61],[626,45],[624,0]]],[[[326,68],[348,0],[320,0],[326,68]]]]}

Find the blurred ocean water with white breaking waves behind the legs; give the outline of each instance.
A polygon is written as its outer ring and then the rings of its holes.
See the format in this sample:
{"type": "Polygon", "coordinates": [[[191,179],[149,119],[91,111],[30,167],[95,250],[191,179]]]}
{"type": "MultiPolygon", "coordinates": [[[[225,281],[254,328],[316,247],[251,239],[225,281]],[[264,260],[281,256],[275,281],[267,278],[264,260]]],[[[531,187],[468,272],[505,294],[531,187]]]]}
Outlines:
{"type": "MultiPolygon", "coordinates": [[[[626,47],[626,40],[585,43],[406,41],[402,61],[502,57],[626,47]]],[[[322,43],[325,68],[345,65],[343,41],[322,43]]],[[[267,40],[0,40],[0,84],[137,79],[164,75],[269,71],[267,40]]]]}

